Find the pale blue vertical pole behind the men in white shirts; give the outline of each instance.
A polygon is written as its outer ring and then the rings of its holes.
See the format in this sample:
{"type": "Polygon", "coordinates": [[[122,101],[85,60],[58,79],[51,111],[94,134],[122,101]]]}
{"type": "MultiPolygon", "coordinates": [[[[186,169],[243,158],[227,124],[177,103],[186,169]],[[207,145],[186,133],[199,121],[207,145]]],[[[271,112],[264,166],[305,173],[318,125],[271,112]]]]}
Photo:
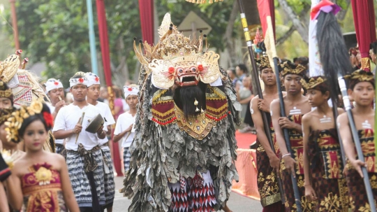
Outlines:
{"type": "Polygon", "coordinates": [[[94,36],[93,6],[91,6],[91,0],[87,0],[87,10],[88,10],[87,13],[88,13],[88,25],[89,25],[91,72],[98,75],[96,37],[94,36]]]}

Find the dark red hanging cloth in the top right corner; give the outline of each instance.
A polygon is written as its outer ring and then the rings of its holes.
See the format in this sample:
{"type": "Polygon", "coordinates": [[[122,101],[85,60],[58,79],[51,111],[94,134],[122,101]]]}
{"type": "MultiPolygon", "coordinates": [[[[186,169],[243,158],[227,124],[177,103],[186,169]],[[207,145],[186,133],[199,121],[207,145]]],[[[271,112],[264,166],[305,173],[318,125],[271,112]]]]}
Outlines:
{"type": "Polygon", "coordinates": [[[374,0],[352,0],[353,21],[362,58],[369,57],[369,45],[376,41],[374,0]]]}

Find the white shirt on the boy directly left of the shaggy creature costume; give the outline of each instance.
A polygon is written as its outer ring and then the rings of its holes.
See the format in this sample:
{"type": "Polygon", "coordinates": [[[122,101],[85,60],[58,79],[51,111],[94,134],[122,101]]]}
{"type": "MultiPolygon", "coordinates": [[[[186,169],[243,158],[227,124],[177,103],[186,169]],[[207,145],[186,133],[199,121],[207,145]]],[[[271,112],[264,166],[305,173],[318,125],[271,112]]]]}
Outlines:
{"type": "Polygon", "coordinates": [[[128,133],[126,133],[123,136],[123,139],[121,139],[121,147],[123,148],[128,148],[131,146],[133,137],[135,136],[135,118],[136,118],[136,115],[132,116],[130,113],[128,113],[128,111],[122,113],[118,117],[117,125],[115,126],[115,130],[114,130],[114,135],[121,134],[122,132],[124,132],[124,130],[126,130],[128,127],[133,125],[130,136],[128,136],[128,133]],[[127,136],[128,138],[126,139],[127,136]]]}

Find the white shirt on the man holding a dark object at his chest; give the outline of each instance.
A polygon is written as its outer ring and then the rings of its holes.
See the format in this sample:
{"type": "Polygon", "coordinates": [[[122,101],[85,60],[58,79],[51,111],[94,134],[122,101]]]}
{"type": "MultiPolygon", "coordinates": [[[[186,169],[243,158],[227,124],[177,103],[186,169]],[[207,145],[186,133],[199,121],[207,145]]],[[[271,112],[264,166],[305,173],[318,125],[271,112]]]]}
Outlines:
{"type": "MultiPolygon", "coordinates": [[[[71,130],[75,128],[78,120],[81,118],[82,113],[85,112],[84,120],[82,121],[82,130],[79,134],[76,143],[76,136],[77,134],[73,134],[66,138],[66,149],[67,150],[75,150],[77,151],[77,147],[79,143],[82,143],[86,150],[91,150],[95,146],[98,145],[98,136],[97,134],[91,134],[85,131],[87,125],[89,124],[88,120],[93,119],[100,110],[91,104],[84,106],[83,108],[79,108],[79,106],[75,106],[73,104],[68,104],[68,106],[64,106],[59,110],[57,117],[55,118],[54,122],[54,129],[52,132],[57,132],[61,129],[63,130],[71,130]]],[[[108,131],[105,127],[103,128],[104,131],[108,131]]]]}

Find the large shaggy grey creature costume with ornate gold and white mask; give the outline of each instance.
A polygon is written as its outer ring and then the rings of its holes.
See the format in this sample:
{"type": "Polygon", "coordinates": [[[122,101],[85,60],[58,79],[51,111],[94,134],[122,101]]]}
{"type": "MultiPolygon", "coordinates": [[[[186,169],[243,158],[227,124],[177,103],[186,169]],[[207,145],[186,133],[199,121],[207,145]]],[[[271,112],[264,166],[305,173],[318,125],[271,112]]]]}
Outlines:
{"type": "Polygon", "coordinates": [[[146,55],[134,45],[142,63],[140,94],[121,192],[132,199],[128,211],[215,211],[238,178],[241,106],[219,55],[203,49],[205,36],[190,41],[170,14],[158,33],[154,47],[144,43],[146,55]]]}

